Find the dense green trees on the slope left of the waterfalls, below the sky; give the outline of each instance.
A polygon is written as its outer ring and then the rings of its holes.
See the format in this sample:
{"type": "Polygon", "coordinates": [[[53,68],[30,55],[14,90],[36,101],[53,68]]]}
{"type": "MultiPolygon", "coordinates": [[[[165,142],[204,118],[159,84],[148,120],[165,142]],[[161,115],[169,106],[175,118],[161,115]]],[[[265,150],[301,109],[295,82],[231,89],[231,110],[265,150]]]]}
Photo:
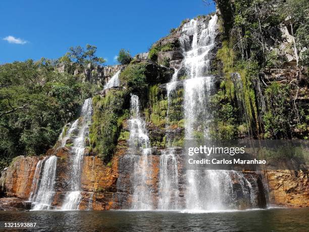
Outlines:
{"type": "Polygon", "coordinates": [[[76,118],[97,86],[56,69],[42,58],[0,66],[0,169],[19,155],[52,148],[63,126],[76,118]]]}

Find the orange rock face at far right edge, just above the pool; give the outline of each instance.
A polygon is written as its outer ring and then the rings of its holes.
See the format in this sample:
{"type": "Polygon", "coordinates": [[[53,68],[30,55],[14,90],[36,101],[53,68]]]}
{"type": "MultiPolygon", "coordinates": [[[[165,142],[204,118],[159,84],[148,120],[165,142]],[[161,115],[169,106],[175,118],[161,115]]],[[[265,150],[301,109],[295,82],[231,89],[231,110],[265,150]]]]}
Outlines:
{"type": "Polygon", "coordinates": [[[307,170],[272,170],[266,172],[271,204],[309,207],[309,172],[307,170]]]}

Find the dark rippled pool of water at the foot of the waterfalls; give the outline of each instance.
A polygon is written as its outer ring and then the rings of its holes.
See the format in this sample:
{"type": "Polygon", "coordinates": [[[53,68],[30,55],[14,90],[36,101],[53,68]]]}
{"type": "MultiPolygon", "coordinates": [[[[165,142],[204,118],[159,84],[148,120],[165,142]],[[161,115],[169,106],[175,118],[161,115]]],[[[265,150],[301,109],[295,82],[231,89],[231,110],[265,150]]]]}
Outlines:
{"type": "Polygon", "coordinates": [[[309,209],[231,212],[30,211],[0,212],[5,222],[36,222],[23,231],[309,231],[309,209]]]}

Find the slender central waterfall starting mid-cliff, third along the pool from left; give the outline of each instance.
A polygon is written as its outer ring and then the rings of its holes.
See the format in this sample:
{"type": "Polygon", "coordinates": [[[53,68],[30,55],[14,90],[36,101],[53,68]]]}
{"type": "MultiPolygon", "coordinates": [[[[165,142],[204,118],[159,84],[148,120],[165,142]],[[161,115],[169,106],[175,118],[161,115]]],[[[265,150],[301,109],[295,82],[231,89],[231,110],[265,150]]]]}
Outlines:
{"type": "Polygon", "coordinates": [[[151,159],[149,159],[151,149],[145,121],[141,119],[139,112],[139,99],[136,95],[131,95],[130,108],[129,146],[132,154],[127,156],[134,161],[132,209],[151,210],[153,209],[152,188],[149,184],[151,181],[151,159]]]}

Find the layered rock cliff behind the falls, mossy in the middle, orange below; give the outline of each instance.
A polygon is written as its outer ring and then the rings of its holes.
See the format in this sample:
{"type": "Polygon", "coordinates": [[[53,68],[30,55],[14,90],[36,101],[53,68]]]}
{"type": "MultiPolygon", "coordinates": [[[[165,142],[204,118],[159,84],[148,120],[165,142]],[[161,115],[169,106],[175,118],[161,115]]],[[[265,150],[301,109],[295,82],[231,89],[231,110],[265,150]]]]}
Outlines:
{"type": "MultiPolygon", "coordinates": [[[[224,14],[224,12],[222,13],[224,14]]],[[[197,27],[207,24],[211,16],[199,17],[197,27]]],[[[93,104],[93,125],[90,133],[95,132],[95,136],[87,137],[87,147],[84,152],[81,164],[81,210],[110,210],[129,209],[133,200],[133,160],[129,158],[131,154],[128,138],[128,115],[129,96],[139,94],[141,99],[141,117],[145,118],[145,126],[151,145],[151,154],[148,159],[151,163],[151,172],[147,174],[145,186],[151,186],[150,193],[153,204],[159,203],[159,178],[160,178],[160,157],[162,150],[167,148],[167,137],[172,138],[176,151],[176,158],[179,161],[177,166],[179,178],[179,202],[184,206],[186,173],[183,164],[184,119],[183,119],[183,81],[186,76],[185,68],[181,68],[183,51],[188,48],[181,47],[179,37],[186,31],[184,25],[173,30],[168,36],[153,44],[149,53],[139,54],[128,66],[97,66],[88,67],[80,71],[76,68],[75,75],[83,76],[86,80],[95,83],[105,84],[111,76],[122,69],[120,75],[120,86],[99,92],[93,104]],[[167,83],[177,72],[178,82],[176,84],[175,99],[168,105],[167,83]],[[137,79],[136,77],[140,77],[137,79]],[[117,95],[117,98],[115,97],[117,95]],[[113,97],[113,95],[115,95],[113,97]],[[102,110],[104,109],[104,110],[102,110]],[[169,112],[167,112],[169,111],[169,112]],[[167,122],[167,114],[171,120],[167,122]],[[109,136],[110,140],[106,141],[109,136]],[[90,142],[89,142],[90,141],[90,142]],[[102,142],[104,141],[104,142],[102,142]],[[110,146],[110,147],[109,147],[110,146]],[[103,148],[102,148],[103,147],[103,148]],[[106,149],[109,147],[109,149],[106,149]],[[106,152],[107,151],[107,152],[106,152]],[[106,152],[108,154],[103,154],[106,152]]],[[[225,24],[228,22],[225,21],[225,24]]],[[[214,72],[216,90],[220,89],[224,76],[222,61],[215,57],[222,47],[221,36],[224,32],[218,33],[215,46],[209,53],[210,69],[214,72]]],[[[189,36],[189,43],[192,43],[192,36],[189,36]]],[[[64,72],[65,67],[60,66],[59,71],[64,72]]],[[[234,70],[233,70],[234,71],[234,70]]],[[[301,70],[296,68],[266,69],[268,84],[270,82],[290,83],[297,79],[304,81],[305,76],[301,70]]],[[[237,72],[234,72],[236,75],[237,72]]],[[[232,73],[228,73],[231,75],[232,73]]],[[[233,74],[232,74],[233,75],[233,74]]],[[[238,74],[239,75],[239,74],[238,74]]],[[[266,84],[267,85],[267,84],[266,84]]],[[[297,89],[295,101],[302,101],[307,104],[306,86],[297,89]]],[[[218,129],[217,129],[218,130],[218,129]]],[[[224,131],[225,132],[225,131],[224,131]]],[[[66,145],[60,147],[59,142],[55,148],[47,151],[46,156],[57,156],[57,168],[55,179],[55,196],[52,206],[60,208],[65,200],[65,195],[69,191],[70,177],[69,167],[72,166],[72,138],[66,141],[66,145]]],[[[140,154],[139,154],[140,155],[140,154]]],[[[17,157],[10,167],[1,173],[0,190],[2,196],[0,207],[7,209],[27,208],[24,201],[30,197],[35,178],[35,170],[39,160],[44,157],[17,157]],[[15,202],[14,204],[12,202],[15,202]],[[22,205],[23,206],[22,206],[22,205]]],[[[139,160],[142,162],[142,159],[139,160]]],[[[247,186],[258,190],[254,199],[254,206],[265,207],[269,204],[279,204],[285,206],[308,207],[309,205],[309,183],[307,171],[266,171],[263,175],[258,172],[244,171],[240,173],[243,179],[247,180],[247,186]],[[268,190],[265,190],[265,186],[268,190]],[[267,192],[268,191],[268,192],[267,192]],[[269,199],[266,198],[269,197],[269,199]]],[[[245,209],[252,205],[243,202],[243,185],[239,181],[239,176],[231,174],[232,189],[236,193],[235,205],[238,209],[245,209]]],[[[142,187],[142,188],[146,188],[142,187]]],[[[251,191],[250,189],[250,191],[251,191]]],[[[143,189],[141,190],[143,191],[143,189]]],[[[248,191],[247,191],[248,192],[248,191]]],[[[250,193],[251,194],[251,193],[250,193]]],[[[1,208],[0,208],[1,209],[1,208]]]]}

